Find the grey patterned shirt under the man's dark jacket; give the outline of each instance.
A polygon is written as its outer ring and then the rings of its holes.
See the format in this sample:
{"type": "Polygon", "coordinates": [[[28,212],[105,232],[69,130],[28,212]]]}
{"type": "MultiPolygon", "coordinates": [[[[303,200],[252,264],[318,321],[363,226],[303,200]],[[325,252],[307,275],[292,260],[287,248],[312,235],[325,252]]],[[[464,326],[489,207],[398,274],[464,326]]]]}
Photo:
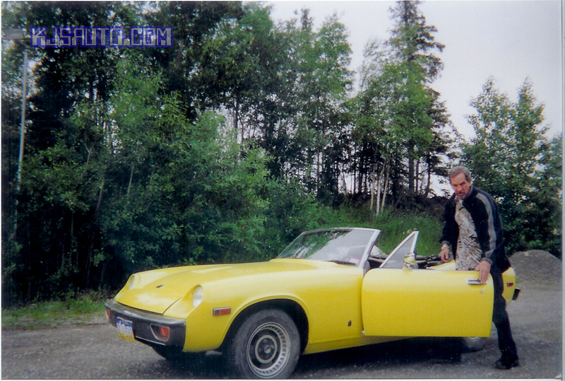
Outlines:
{"type": "Polygon", "coordinates": [[[459,225],[456,269],[475,270],[477,264],[481,262],[482,250],[479,238],[477,238],[475,223],[472,222],[469,211],[459,199],[456,201],[455,221],[459,225]]]}

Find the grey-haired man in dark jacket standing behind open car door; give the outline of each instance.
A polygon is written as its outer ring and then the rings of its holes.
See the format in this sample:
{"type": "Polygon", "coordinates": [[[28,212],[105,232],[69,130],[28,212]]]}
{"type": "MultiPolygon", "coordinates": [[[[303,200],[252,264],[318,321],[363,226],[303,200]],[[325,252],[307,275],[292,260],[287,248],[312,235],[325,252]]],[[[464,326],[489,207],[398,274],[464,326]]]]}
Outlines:
{"type": "Polygon", "coordinates": [[[453,248],[456,269],[479,271],[485,283],[492,275],[494,309],[492,321],[499,336],[502,356],[496,368],[511,369],[520,365],[516,344],[512,339],[506,300],[502,296],[502,273],[510,267],[504,251],[502,223],[494,199],[487,192],[472,186],[468,168],[455,167],[449,172],[455,194],[444,212],[444,233],[441,237],[441,261],[449,262],[449,246],[453,248]]]}

